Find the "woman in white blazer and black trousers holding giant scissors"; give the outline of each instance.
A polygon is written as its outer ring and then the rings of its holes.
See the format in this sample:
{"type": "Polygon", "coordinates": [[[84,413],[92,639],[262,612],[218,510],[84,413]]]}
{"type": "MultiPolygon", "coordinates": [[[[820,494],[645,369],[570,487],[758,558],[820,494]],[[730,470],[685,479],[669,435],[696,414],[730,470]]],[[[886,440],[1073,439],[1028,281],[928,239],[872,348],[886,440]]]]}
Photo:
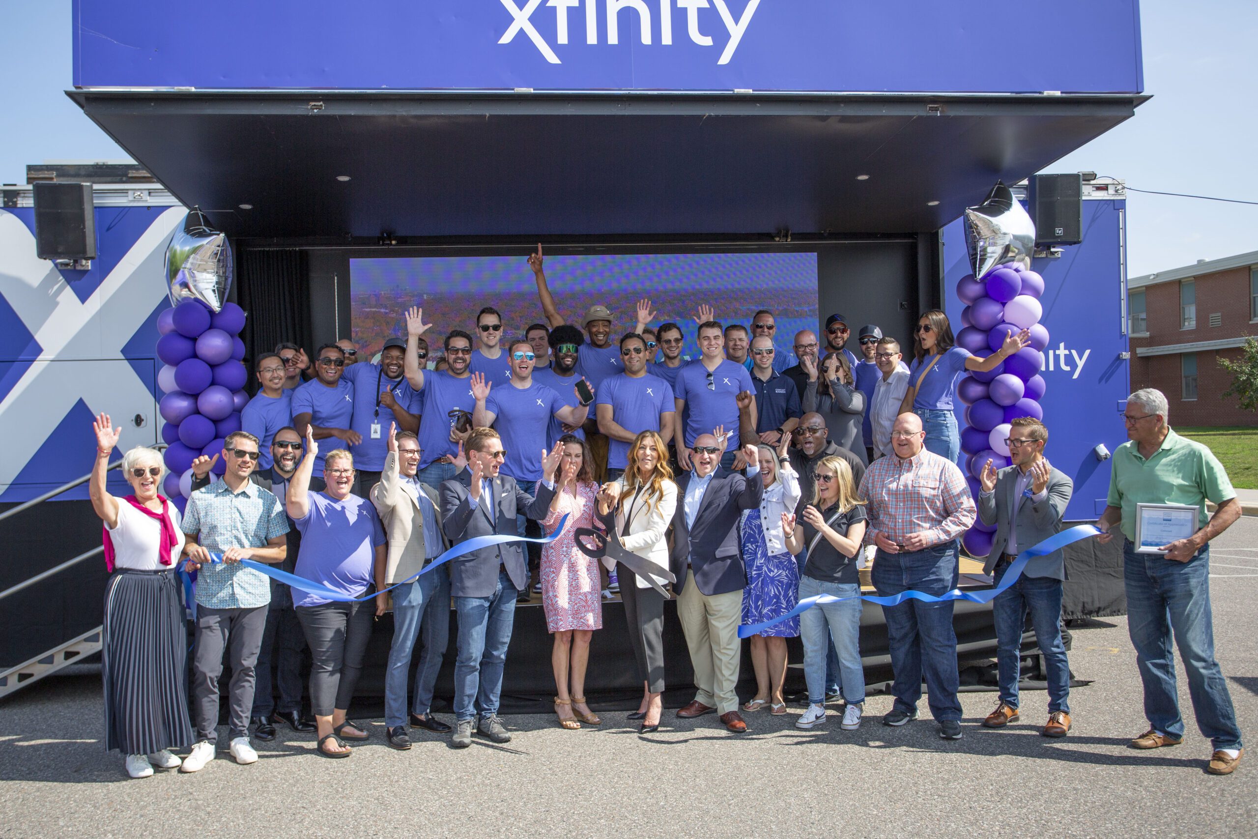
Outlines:
{"type": "MultiPolygon", "coordinates": [[[[668,570],[668,523],[677,509],[677,484],[668,468],[668,449],[655,431],[643,431],[629,447],[624,475],[599,491],[599,516],[615,528],[626,550],[668,570]]],[[[624,564],[618,564],[620,600],[625,606],[638,674],[643,681],[642,704],[630,720],[642,720],[639,731],[659,728],[664,692],[664,597],[624,564]]],[[[660,585],[665,577],[655,576],[660,585]]]]}

